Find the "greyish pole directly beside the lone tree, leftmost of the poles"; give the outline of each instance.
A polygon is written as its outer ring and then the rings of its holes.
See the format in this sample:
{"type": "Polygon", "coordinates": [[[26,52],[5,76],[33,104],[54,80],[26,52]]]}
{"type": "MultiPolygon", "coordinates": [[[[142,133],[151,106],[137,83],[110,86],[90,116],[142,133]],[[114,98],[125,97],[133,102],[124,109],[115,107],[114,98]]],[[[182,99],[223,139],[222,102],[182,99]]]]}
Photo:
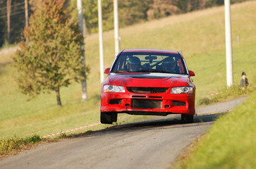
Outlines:
{"type": "Polygon", "coordinates": [[[82,32],[83,42],[80,46],[80,49],[83,51],[82,56],[82,63],[83,63],[83,70],[85,73],[85,80],[82,80],[82,101],[85,101],[87,99],[87,84],[86,84],[86,64],[85,64],[85,33],[84,33],[84,27],[83,27],[83,10],[82,10],[82,0],[77,1],[78,4],[78,22],[79,22],[79,28],[82,32]]]}

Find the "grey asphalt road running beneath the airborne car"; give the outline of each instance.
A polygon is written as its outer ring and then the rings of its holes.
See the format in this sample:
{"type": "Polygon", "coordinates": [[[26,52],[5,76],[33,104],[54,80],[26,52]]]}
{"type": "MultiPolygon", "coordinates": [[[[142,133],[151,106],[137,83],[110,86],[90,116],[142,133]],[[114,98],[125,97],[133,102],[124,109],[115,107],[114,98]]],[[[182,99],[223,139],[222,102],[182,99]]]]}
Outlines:
{"type": "Polygon", "coordinates": [[[169,115],[42,144],[2,159],[0,168],[169,168],[219,115],[244,99],[199,108],[192,124],[182,124],[180,115],[169,115]]]}

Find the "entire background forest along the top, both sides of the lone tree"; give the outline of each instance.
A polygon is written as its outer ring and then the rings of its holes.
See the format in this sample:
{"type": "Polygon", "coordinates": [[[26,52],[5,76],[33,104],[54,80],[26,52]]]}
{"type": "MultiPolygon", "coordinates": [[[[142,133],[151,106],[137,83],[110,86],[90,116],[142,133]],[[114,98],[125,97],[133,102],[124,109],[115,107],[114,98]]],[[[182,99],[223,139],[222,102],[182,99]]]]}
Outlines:
{"type": "MultiPolygon", "coordinates": [[[[0,47],[7,39],[6,1],[0,1],[0,47]]],[[[19,42],[20,32],[25,27],[25,0],[13,0],[11,2],[11,44],[19,42]]],[[[40,0],[29,1],[29,14],[36,11],[40,0]]],[[[64,8],[68,9],[73,18],[77,18],[77,0],[62,0],[64,8]]],[[[248,0],[231,0],[231,4],[248,0]]],[[[119,26],[133,25],[145,20],[152,20],[186,13],[190,11],[223,5],[223,0],[120,0],[118,1],[119,26]]],[[[83,16],[85,17],[87,33],[98,31],[97,0],[83,0],[83,16]]],[[[103,29],[114,28],[113,0],[102,0],[103,29]]]]}

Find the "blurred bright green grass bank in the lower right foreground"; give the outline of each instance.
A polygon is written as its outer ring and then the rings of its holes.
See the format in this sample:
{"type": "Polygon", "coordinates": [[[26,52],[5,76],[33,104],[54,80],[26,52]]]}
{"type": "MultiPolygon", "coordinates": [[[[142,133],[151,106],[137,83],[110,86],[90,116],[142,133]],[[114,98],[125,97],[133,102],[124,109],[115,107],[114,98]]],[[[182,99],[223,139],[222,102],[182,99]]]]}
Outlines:
{"type": "Polygon", "coordinates": [[[175,168],[256,168],[255,103],[253,92],[243,104],[221,116],[175,168]]]}

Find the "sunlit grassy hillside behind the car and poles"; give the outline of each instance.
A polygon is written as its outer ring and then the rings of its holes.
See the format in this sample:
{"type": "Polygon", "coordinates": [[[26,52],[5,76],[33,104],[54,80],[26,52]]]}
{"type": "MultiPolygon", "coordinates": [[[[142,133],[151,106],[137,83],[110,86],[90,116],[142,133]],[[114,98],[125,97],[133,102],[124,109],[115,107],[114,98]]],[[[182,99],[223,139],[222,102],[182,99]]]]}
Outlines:
{"type": "MultiPolygon", "coordinates": [[[[251,85],[256,83],[256,1],[231,6],[233,34],[234,83],[245,71],[251,85]],[[240,43],[237,42],[239,36],[240,43]]],[[[122,19],[122,18],[119,18],[122,19]]],[[[133,25],[120,30],[121,49],[173,49],[183,53],[188,68],[195,71],[196,101],[226,86],[224,6],[175,15],[161,20],[133,25]]],[[[99,45],[98,35],[86,39],[86,62],[90,67],[87,80],[89,99],[81,101],[81,86],[61,88],[63,107],[56,106],[56,96],[41,94],[27,101],[20,94],[11,67],[11,54],[0,53],[0,138],[51,134],[99,122],[99,45]]],[[[114,61],[114,31],[104,32],[104,65],[114,61]]],[[[141,118],[130,116],[127,120],[141,118]]],[[[123,121],[123,120],[121,120],[123,121]]],[[[107,125],[98,125],[89,130],[107,125]]],[[[84,132],[81,130],[80,132],[84,132]]]]}

